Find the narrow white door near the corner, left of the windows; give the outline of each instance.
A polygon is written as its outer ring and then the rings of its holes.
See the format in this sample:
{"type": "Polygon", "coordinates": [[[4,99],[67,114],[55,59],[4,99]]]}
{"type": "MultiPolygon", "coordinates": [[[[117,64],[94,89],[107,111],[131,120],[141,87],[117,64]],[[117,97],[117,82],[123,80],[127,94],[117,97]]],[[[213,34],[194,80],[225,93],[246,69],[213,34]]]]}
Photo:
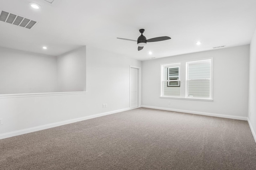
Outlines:
{"type": "Polygon", "coordinates": [[[138,107],[139,69],[131,67],[130,74],[130,108],[138,107]]]}

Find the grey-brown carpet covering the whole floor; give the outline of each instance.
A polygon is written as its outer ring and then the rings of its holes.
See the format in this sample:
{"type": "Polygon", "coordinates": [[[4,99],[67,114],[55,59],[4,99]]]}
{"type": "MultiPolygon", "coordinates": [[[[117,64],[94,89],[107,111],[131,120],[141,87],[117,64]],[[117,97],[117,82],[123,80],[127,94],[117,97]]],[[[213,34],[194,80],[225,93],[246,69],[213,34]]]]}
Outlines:
{"type": "Polygon", "coordinates": [[[138,108],[0,140],[1,170],[256,170],[247,121],[138,108]]]}

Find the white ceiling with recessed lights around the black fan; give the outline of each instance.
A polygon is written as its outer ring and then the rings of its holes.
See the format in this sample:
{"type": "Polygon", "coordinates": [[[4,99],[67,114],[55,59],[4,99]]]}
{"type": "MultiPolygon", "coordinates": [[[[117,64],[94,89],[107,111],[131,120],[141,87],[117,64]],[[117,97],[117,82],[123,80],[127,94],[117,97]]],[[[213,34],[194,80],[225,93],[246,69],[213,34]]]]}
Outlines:
{"type": "Polygon", "coordinates": [[[255,9],[256,0],[0,0],[0,12],[39,22],[26,29],[0,21],[0,46],[56,56],[89,45],[144,61],[250,44],[255,9]],[[172,39],[138,51],[136,42],[116,38],[137,40],[142,28],[147,39],[172,39]]]}

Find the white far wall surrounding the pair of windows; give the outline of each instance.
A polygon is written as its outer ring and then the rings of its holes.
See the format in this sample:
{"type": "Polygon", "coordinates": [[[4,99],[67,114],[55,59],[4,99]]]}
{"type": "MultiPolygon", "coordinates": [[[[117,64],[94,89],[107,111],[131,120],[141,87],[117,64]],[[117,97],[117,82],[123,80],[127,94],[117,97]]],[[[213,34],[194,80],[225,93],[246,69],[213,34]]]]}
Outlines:
{"type": "Polygon", "coordinates": [[[248,67],[249,45],[143,61],[142,106],[205,115],[232,115],[230,118],[246,119],[248,67]],[[213,102],[159,98],[161,64],[210,57],[213,57],[213,102]]]}

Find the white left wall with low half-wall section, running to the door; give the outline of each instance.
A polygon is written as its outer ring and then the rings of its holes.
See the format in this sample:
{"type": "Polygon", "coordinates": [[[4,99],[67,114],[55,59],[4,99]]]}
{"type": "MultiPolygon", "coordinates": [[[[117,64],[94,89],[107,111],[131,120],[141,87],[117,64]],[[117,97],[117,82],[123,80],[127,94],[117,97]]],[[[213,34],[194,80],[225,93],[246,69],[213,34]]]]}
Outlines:
{"type": "Polygon", "coordinates": [[[130,65],[141,67],[141,61],[86,46],[87,94],[0,98],[4,123],[0,125],[0,139],[61,121],[128,109],[130,65]],[[108,107],[102,108],[102,104],[108,107]]]}

